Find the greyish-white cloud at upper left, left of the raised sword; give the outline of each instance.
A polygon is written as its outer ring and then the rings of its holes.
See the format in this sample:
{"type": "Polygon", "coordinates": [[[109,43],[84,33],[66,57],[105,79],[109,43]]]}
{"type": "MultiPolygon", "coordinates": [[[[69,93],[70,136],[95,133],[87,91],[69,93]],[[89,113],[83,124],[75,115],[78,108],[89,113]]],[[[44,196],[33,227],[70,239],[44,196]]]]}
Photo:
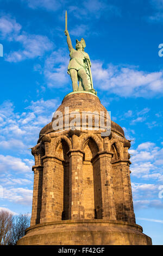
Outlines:
{"type": "Polygon", "coordinates": [[[9,15],[1,16],[0,35],[22,45],[22,49],[5,54],[7,62],[20,62],[24,59],[40,57],[54,47],[53,42],[47,36],[21,32],[21,28],[22,26],[9,15]]]}

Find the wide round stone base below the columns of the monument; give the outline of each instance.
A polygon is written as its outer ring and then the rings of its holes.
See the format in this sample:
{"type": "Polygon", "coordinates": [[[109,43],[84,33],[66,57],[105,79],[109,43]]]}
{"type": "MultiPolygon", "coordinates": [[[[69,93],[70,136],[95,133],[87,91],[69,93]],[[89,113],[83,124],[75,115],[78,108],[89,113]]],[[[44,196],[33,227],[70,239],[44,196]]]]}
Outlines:
{"type": "Polygon", "coordinates": [[[133,223],[67,220],[27,228],[17,245],[152,245],[152,240],[133,223]]]}

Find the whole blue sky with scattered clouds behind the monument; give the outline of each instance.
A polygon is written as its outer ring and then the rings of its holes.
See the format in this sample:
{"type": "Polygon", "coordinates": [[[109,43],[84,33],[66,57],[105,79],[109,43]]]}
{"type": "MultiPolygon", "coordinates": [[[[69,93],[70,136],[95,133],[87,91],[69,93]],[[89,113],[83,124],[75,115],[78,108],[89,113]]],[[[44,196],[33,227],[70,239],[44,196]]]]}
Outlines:
{"type": "Polygon", "coordinates": [[[163,245],[163,0],[0,0],[0,206],[31,212],[34,157],[28,148],[72,92],[66,9],[73,46],[85,39],[99,99],[133,140],[136,223],[154,245],[163,245]]]}

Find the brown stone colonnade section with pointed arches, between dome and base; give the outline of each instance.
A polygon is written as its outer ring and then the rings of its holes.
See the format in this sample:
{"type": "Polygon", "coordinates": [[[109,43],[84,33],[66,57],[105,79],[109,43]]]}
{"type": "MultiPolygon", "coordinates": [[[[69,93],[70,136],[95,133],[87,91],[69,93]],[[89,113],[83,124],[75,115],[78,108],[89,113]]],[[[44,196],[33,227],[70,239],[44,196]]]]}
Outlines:
{"type": "Polygon", "coordinates": [[[40,212],[40,207],[41,223],[71,218],[135,222],[130,161],[124,159],[127,151],[122,143],[126,139],[119,141],[114,132],[112,136],[116,139],[102,138],[100,133],[91,131],[82,131],[78,136],[75,133],[67,131],[67,135],[57,137],[49,133],[37,145],[39,151],[44,144],[45,155],[36,159],[43,162],[43,169],[33,167],[37,171],[32,224],[39,223],[36,212],[40,212]],[[42,199],[38,196],[41,193],[42,199]]]}

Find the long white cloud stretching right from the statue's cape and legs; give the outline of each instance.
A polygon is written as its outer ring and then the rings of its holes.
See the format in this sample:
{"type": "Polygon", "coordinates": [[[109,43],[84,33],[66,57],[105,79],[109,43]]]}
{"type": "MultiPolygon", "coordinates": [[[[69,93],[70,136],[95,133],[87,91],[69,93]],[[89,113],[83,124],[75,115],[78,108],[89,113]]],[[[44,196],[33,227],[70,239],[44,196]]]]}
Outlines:
{"type": "Polygon", "coordinates": [[[92,61],[91,70],[96,88],[119,96],[152,97],[163,92],[162,71],[150,73],[111,64],[103,68],[99,61],[92,61]]]}

